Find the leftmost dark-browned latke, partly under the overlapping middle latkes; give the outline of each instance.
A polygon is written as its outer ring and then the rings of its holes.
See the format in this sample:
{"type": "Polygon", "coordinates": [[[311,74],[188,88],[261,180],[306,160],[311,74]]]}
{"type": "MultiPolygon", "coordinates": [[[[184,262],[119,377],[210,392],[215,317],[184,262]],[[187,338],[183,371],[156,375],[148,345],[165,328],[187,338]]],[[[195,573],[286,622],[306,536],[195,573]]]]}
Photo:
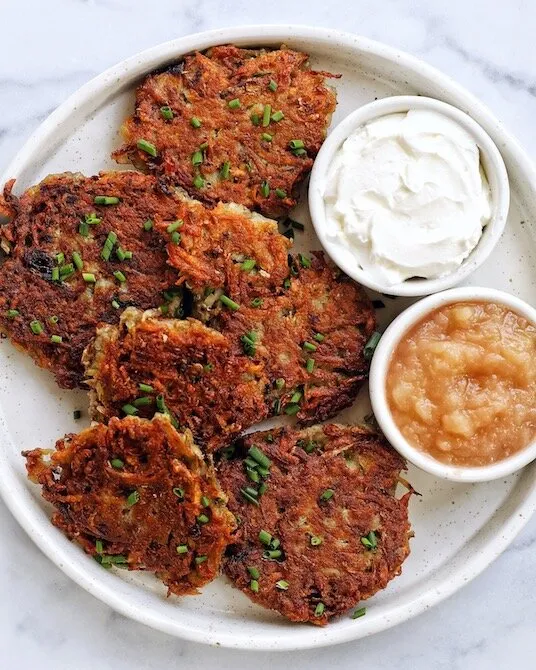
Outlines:
{"type": "Polygon", "coordinates": [[[143,224],[174,221],[178,205],[154,177],[137,172],[52,175],[20,198],[12,187],[8,183],[0,199],[11,218],[0,227],[2,245],[11,251],[0,266],[0,329],[60,386],[73,388],[82,382],[82,352],[97,325],[117,323],[127,305],[159,306],[163,291],[176,283],[160,234],[143,224]],[[102,196],[119,200],[97,204],[102,196]],[[104,260],[110,234],[117,241],[104,260]],[[121,261],[119,249],[132,257],[121,261]]]}

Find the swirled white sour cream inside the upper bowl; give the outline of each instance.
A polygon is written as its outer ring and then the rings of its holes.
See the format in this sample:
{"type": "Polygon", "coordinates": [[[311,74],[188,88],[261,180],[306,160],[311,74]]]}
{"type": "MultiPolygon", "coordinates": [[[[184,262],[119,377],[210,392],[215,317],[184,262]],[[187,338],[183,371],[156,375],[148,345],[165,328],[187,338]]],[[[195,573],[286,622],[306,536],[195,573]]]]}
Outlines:
{"type": "Polygon", "coordinates": [[[357,128],[330,166],[324,203],[328,239],[384,285],[455,271],[491,219],[475,140],[425,110],[357,128]]]}

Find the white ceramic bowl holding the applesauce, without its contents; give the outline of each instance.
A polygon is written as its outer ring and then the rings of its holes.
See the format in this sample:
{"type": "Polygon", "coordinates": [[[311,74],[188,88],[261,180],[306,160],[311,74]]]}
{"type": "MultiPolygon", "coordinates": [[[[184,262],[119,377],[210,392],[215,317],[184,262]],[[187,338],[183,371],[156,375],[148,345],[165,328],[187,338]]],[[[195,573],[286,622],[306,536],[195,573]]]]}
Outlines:
{"type": "Polygon", "coordinates": [[[383,334],[370,368],[370,399],[374,416],[385,437],[408,461],[436,477],[457,482],[483,482],[511,475],[536,459],[536,440],[526,447],[491,465],[478,467],[442,463],[412,446],[398,429],[387,402],[386,379],[393,351],[406,333],[430,312],[455,302],[485,301],[505,305],[536,327],[536,309],[523,300],[492,288],[468,286],[428,296],[403,311],[383,334]]]}

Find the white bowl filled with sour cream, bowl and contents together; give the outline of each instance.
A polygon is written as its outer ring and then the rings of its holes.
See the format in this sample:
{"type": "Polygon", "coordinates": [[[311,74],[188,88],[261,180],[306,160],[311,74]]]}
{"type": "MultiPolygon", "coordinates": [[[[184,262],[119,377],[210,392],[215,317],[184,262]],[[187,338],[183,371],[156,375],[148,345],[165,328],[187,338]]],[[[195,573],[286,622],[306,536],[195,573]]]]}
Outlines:
{"type": "Polygon", "coordinates": [[[360,284],[419,296],[455,286],[506,224],[508,175],[471,117],[420,96],[364,105],[328,136],[309,206],[331,259],[360,284]]]}

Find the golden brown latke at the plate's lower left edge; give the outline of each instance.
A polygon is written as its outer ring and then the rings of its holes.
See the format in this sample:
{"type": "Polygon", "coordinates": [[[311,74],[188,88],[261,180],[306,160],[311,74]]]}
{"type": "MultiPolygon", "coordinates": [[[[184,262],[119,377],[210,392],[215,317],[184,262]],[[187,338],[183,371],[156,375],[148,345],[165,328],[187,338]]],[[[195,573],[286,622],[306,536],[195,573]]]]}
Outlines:
{"type": "Polygon", "coordinates": [[[52,523],[104,567],[154,572],[176,595],[218,574],[234,518],[191,433],[167,417],[112,419],[23,455],[52,523]]]}

